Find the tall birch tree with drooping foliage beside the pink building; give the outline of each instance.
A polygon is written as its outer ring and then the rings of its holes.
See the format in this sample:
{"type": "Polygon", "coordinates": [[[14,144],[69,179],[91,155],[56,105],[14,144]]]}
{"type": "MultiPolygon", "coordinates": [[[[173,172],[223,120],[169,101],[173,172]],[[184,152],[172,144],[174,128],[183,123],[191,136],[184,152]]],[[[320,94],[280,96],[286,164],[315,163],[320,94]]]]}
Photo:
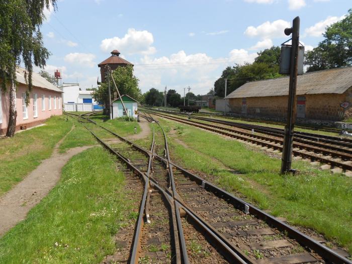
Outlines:
{"type": "MultiPolygon", "coordinates": [[[[45,19],[44,9],[50,7],[56,10],[56,0],[0,1],[0,79],[1,90],[9,92],[10,99],[8,137],[12,137],[16,130],[16,65],[22,62],[25,66],[26,93],[29,94],[32,90],[32,64],[42,68],[50,55],[40,32],[45,19]]],[[[29,96],[27,99],[28,105],[29,96]]]]}

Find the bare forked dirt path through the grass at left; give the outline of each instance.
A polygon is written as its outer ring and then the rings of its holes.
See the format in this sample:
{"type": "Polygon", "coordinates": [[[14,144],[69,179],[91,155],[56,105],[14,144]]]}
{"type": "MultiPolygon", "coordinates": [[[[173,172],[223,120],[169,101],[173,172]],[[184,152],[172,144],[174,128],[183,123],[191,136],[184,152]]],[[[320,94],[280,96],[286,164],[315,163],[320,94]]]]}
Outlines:
{"type": "MultiPolygon", "coordinates": [[[[68,133],[73,128],[74,125],[68,133]]],[[[51,157],[43,160],[22,182],[0,197],[0,236],[24,220],[29,210],[49,193],[60,179],[62,167],[72,156],[92,147],[71,148],[60,154],[58,148],[67,134],[56,144],[51,157]]]]}

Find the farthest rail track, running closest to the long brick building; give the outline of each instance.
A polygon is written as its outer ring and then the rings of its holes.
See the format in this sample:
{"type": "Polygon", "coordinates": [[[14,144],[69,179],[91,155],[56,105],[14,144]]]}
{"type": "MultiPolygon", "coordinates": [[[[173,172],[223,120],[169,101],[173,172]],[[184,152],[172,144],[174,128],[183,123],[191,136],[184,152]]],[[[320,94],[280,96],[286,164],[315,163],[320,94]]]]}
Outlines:
{"type": "MultiPolygon", "coordinates": [[[[155,109],[152,108],[145,108],[147,110],[153,110],[155,111],[155,109]]],[[[165,111],[165,110],[158,110],[160,112],[165,112],[165,113],[172,113],[172,114],[180,114],[180,115],[187,115],[185,113],[181,113],[178,111],[165,111]]],[[[235,117],[231,117],[231,116],[224,116],[223,114],[219,114],[219,113],[203,113],[203,112],[199,112],[196,114],[193,114],[194,116],[217,116],[217,117],[221,117],[221,118],[226,118],[226,119],[232,119],[232,120],[239,120],[239,121],[246,121],[246,122],[260,122],[260,123],[266,123],[266,124],[272,124],[272,125],[279,125],[279,126],[285,126],[286,123],[283,122],[275,122],[275,121],[268,121],[268,120],[260,120],[260,119],[249,119],[249,118],[235,118],[235,117]]],[[[327,128],[327,127],[312,127],[312,126],[303,126],[303,125],[295,125],[296,128],[302,128],[302,129],[310,129],[310,130],[316,130],[316,131],[325,131],[325,132],[331,132],[331,133],[341,133],[342,129],[338,129],[338,128],[327,128]]],[[[345,130],[345,131],[350,131],[350,130],[345,130]]]]}

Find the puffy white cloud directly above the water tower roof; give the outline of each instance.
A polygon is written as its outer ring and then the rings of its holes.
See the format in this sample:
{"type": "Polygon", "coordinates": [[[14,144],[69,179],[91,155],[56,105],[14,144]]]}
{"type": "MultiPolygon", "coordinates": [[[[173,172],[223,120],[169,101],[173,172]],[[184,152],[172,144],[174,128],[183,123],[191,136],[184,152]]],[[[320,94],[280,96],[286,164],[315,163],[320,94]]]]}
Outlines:
{"type": "Polygon", "coordinates": [[[100,48],[103,51],[118,49],[124,54],[153,54],[155,47],[151,46],[154,42],[153,34],[143,30],[138,31],[133,28],[128,29],[123,38],[113,37],[102,40],[100,48]]]}

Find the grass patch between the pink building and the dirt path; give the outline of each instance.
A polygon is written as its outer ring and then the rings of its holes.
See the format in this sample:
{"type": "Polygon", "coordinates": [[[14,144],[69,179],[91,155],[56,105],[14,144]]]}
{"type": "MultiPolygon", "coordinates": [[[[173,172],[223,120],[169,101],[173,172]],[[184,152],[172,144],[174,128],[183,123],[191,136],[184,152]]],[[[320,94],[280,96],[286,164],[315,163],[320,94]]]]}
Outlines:
{"type": "Polygon", "coordinates": [[[45,123],[12,138],[0,139],[0,196],[48,158],[56,143],[72,127],[72,121],[66,121],[63,116],[51,117],[45,123]]]}

